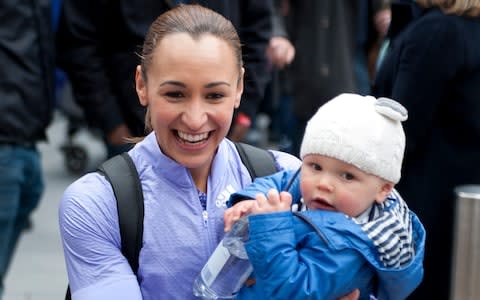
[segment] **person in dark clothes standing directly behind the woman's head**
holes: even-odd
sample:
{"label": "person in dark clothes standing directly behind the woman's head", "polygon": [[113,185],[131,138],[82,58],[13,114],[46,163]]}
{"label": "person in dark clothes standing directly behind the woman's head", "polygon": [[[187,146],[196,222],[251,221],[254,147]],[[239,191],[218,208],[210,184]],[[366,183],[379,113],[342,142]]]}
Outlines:
{"label": "person in dark clothes standing directly behind the woman's head", "polygon": [[90,125],[102,130],[109,156],[125,148],[126,136],[144,134],[144,107],[134,75],[149,25],[179,2],[195,2],[227,17],[244,45],[246,69],[242,103],[230,137],[241,140],[255,116],[268,80],[265,49],[271,35],[271,1],[64,0],[57,34],[59,66]]}

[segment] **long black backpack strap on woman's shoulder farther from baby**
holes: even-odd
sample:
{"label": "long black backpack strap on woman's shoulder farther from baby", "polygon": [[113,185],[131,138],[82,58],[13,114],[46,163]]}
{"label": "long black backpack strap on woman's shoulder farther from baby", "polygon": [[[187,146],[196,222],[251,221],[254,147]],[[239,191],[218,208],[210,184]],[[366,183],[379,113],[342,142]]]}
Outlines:
{"label": "long black backpack strap on woman's shoulder farther from baby", "polygon": [[[117,199],[122,253],[133,273],[138,271],[138,256],[143,243],[143,192],[138,172],[128,153],[114,156],[100,165]],[[132,201],[133,200],[133,201]]]}

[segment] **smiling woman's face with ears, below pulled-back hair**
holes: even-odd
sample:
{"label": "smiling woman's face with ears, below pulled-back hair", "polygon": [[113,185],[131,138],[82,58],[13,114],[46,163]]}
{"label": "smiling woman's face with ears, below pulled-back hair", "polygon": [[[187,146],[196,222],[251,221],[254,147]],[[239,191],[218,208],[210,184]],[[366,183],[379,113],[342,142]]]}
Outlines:
{"label": "smiling woman's face with ears, below pulled-back hair", "polygon": [[140,72],[137,93],[163,153],[191,171],[209,170],[243,91],[231,46],[210,34],[170,34],[153,53],[147,82]]}

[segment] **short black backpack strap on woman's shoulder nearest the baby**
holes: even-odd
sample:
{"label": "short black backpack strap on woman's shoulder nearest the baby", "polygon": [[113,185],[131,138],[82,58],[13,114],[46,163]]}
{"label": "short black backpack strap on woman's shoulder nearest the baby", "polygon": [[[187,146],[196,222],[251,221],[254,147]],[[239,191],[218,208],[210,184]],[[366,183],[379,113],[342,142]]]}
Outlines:
{"label": "short black backpack strap on woman's shoulder nearest the baby", "polygon": [[234,144],[252,180],[277,172],[275,159],[270,151],[241,142]]}

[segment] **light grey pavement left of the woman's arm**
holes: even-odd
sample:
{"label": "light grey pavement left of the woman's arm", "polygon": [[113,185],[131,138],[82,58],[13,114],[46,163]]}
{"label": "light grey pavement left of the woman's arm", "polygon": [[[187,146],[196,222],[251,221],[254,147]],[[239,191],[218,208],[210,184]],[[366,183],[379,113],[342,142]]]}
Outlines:
{"label": "light grey pavement left of the woman's arm", "polygon": [[[7,274],[3,300],[64,299],[67,286],[63,250],[58,230],[57,210],[63,190],[77,175],[68,171],[60,147],[66,141],[66,121],[57,115],[49,128],[50,142],[40,144],[46,190],[33,215],[33,228],[18,245]],[[98,138],[82,130],[75,141],[89,154],[88,170],[104,155]]]}

